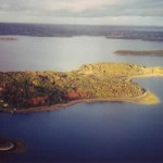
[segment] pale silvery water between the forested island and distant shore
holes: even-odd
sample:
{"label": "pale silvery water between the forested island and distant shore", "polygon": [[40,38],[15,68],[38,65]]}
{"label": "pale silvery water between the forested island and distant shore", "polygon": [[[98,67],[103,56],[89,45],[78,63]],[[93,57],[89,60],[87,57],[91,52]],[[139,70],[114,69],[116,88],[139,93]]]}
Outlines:
{"label": "pale silvery water between the forested island and distant shore", "polygon": [[[13,37],[13,36],[12,36]],[[163,65],[161,57],[120,57],[115,50],[160,50],[163,42],[104,37],[27,37],[0,41],[0,71],[70,71],[92,62],[134,62]]]}

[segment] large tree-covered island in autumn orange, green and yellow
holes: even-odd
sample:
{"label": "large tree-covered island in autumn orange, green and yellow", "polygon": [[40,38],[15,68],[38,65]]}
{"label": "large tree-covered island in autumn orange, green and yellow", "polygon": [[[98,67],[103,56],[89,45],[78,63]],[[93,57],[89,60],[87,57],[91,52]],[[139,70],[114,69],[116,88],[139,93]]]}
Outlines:
{"label": "large tree-covered island in autumn orange, green and yellow", "polygon": [[141,76],[163,76],[163,67],[93,63],[71,72],[0,72],[0,108],[27,113],[78,102],[156,104],[159,99],[152,92],[131,80]]}

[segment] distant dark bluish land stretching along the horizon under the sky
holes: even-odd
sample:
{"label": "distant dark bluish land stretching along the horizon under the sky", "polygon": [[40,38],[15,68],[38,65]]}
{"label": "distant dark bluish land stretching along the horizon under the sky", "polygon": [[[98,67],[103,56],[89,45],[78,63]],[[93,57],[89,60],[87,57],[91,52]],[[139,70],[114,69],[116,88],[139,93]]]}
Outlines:
{"label": "distant dark bluish land stretching along the horizon under the sky", "polygon": [[102,36],[108,39],[163,41],[162,27],[147,26],[0,23],[0,35],[35,37]]}

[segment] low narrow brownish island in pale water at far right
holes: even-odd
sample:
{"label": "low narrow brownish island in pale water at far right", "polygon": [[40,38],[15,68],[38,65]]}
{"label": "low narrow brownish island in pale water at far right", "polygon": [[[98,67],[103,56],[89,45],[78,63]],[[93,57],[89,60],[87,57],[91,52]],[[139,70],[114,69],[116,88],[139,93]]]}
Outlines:
{"label": "low narrow brownish island in pale water at far right", "polygon": [[150,51],[135,51],[135,50],[116,50],[115,54],[120,55],[149,55],[149,57],[163,57],[163,50],[150,50]]}

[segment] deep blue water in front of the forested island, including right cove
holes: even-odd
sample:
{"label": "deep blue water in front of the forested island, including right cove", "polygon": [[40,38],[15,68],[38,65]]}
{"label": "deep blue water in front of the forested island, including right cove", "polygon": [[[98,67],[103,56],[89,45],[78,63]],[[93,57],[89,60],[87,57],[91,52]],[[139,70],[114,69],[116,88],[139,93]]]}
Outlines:
{"label": "deep blue water in front of the forested island, including right cove", "polygon": [[[150,83],[149,83],[150,79]],[[163,100],[163,78],[135,79]],[[26,151],[7,162],[163,161],[163,106],[80,103],[52,112],[0,114],[2,136]]]}

